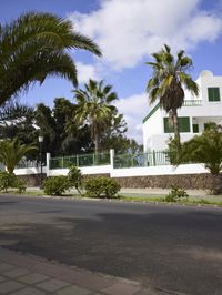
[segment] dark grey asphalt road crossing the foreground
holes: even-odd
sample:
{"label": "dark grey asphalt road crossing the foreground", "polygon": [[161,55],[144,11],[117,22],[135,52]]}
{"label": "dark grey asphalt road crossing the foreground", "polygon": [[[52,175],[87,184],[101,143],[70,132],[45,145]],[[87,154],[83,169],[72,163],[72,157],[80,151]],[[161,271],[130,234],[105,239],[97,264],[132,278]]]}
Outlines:
{"label": "dark grey asphalt road crossing the foreground", "polygon": [[222,294],[221,208],[0,196],[0,245],[165,294]]}

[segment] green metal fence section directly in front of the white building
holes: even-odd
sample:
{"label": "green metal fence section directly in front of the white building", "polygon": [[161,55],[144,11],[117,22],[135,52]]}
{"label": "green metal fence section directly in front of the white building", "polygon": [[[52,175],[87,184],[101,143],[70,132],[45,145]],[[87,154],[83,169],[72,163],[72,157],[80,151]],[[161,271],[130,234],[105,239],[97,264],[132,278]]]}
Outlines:
{"label": "green metal fence section directly in front of the white building", "polygon": [[114,155],[114,169],[121,167],[144,167],[171,165],[175,160],[176,153],[168,151],[152,151],[140,154],[117,154]]}

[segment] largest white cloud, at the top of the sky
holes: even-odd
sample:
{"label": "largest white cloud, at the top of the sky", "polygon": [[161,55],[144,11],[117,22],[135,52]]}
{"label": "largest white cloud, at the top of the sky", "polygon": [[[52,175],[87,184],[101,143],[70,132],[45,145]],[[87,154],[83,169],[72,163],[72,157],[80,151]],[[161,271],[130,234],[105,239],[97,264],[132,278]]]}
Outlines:
{"label": "largest white cloud, at the top of the sky", "polygon": [[69,16],[75,30],[93,38],[103,61],[114,69],[132,68],[164,42],[175,50],[213,41],[222,20],[200,10],[201,0],[101,0],[89,14]]}

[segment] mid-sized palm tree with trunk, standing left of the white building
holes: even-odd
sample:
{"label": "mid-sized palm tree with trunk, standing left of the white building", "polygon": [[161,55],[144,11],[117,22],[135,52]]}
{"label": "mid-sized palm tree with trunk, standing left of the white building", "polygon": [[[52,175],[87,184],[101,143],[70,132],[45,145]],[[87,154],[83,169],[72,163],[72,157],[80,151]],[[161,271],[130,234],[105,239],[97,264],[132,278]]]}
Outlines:
{"label": "mid-sized palm tree with trunk, standing left of the white building", "polygon": [[73,91],[78,102],[74,119],[80,124],[89,123],[95,153],[101,152],[101,132],[105,121],[111,120],[117,111],[111,103],[118,100],[118,95],[111,90],[112,85],[103,85],[103,81],[97,82],[90,79],[89,83],[84,84],[84,90]]}

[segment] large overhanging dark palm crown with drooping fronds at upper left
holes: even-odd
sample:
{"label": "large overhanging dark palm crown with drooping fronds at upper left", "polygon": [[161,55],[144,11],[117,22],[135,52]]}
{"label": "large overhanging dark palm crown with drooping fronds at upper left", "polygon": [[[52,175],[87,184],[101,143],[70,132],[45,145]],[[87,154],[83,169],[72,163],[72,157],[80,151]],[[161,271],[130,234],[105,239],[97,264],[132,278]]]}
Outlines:
{"label": "large overhanging dark palm crown with drooping fronds at upper left", "polygon": [[44,12],[29,12],[0,27],[0,105],[48,75],[78,84],[68,50],[83,49],[101,55],[98,45],[72,23]]}

